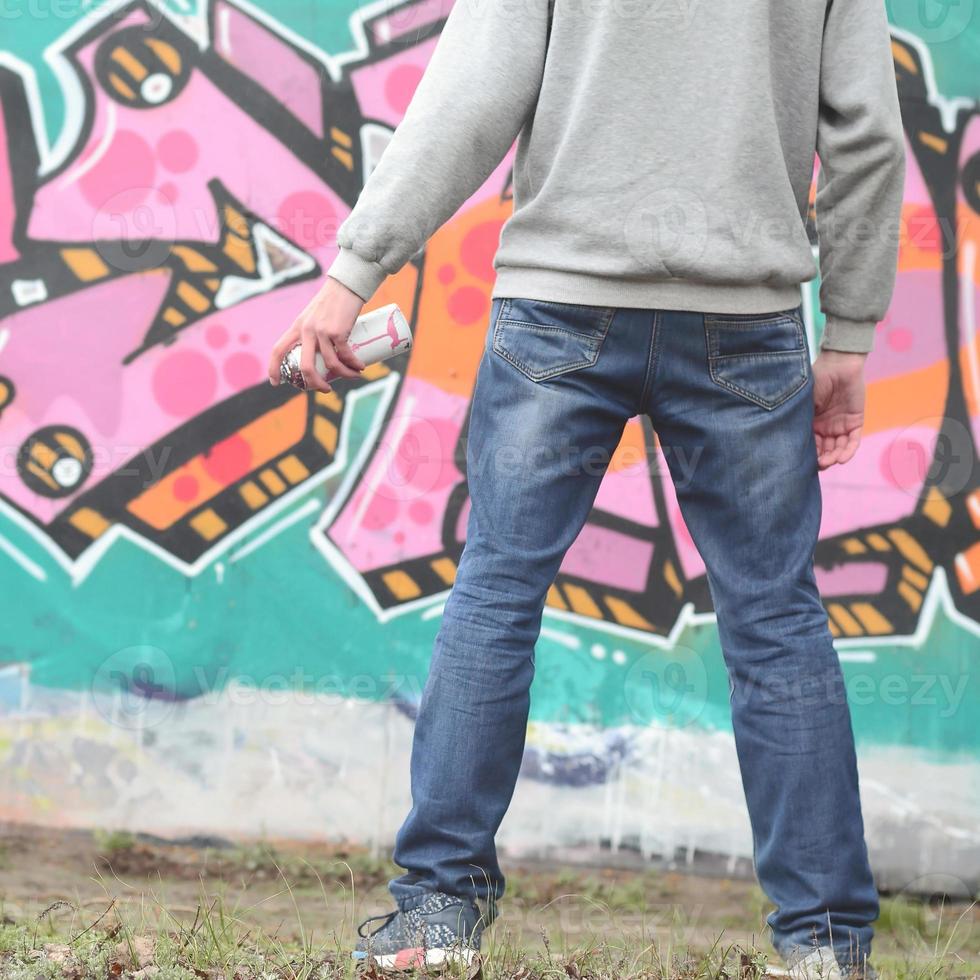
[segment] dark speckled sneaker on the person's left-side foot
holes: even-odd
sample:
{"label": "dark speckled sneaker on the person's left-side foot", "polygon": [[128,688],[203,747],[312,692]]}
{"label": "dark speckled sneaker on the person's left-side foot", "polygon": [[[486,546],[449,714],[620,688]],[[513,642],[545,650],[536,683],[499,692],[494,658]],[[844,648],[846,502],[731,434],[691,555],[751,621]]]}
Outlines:
{"label": "dark speckled sneaker on the person's left-side foot", "polygon": [[[381,925],[371,932],[371,922]],[[371,957],[382,970],[469,965],[480,951],[486,920],[476,904],[458,895],[432,892],[413,909],[395,909],[387,915],[365,919],[358,927],[361,937],[351,956]]]}

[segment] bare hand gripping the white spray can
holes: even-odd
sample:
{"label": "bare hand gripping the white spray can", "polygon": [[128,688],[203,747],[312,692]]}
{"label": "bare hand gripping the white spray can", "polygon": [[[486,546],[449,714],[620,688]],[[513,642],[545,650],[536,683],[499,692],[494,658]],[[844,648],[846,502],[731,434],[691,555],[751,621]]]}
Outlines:
{"label": "bare hand gripping the white spray can", "polygon": [[269,357],[269,381],[279,384],[279,365],[287,351],[296,344],[303,349],[300,372],[310,391],[330,391],[330,384],[316,370],[316,353],[320,352],[328,371],[343,378],[356,378],[366,365],[351,350],[348,338],[364,300],[343,283],[327,276],[313,299],[293,321],[293,325],[276,341]]}

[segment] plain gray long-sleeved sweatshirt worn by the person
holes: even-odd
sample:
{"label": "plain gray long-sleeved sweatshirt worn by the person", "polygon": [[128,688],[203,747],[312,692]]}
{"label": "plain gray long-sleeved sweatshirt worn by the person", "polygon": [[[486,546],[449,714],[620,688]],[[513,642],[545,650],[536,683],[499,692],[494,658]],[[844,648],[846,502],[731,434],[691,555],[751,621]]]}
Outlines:
{"label": "plain gray long-sleeved sweatshirt worn by the person", "polygon": [[365,301],[517,140],[492,296],[800,302],[814,151],[822,346],[868,351],[905,146],[884,0],[456,0],[327,274]]}

